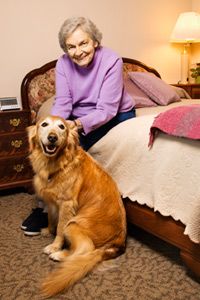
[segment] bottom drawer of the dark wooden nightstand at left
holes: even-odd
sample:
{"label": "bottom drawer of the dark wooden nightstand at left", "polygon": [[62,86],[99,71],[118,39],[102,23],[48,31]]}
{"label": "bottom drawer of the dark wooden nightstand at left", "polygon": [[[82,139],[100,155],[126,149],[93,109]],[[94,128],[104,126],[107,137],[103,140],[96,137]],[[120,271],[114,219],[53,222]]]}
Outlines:
{"label": "bottom drawer of the dark wooden nightstand at left", "polygon": [[32,167],[28,156],[17,156],[9,159],[0,159],[0,185],[31,179]]}

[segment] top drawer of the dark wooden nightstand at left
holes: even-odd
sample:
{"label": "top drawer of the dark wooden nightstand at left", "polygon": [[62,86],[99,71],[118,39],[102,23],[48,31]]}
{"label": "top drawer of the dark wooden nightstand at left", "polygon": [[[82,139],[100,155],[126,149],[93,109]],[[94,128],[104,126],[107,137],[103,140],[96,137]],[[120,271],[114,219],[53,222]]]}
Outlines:
{"label": "top drawer of the dark wooden nightstand at left", "polygon": [[0,133],[24,131],[29,123],[29,113],[26,111],[0,112]]}

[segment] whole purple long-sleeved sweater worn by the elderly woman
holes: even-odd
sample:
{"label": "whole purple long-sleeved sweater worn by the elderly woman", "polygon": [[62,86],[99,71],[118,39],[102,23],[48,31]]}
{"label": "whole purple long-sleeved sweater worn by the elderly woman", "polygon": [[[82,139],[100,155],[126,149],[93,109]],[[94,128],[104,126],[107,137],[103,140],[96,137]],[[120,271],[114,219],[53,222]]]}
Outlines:
{"label": "whole purple long-sleeved sweater worn by the elderly woman", "polygon": [[79,118],[85,134],[133,107],[123,87],[123,62],[112,50],[100,47],[88,67],[64,54],[56,65],[56,98],[52,115]]}

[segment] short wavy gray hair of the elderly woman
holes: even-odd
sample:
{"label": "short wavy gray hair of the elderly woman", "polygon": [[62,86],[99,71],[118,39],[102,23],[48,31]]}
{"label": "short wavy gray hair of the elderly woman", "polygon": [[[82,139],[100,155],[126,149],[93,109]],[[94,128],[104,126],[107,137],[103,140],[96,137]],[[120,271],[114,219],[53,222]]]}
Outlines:
{"label": "short wavy gray hair of the elderly woman", "polygon": [[77,27],[81,27],[83,31],[87,32],[90,38],[94,42],[98,43],[98,46],[101,45],[102,33],[96,25],[88,18],[74,17],[65,20],[58,34],[60,47],[64,50],[64,52],[67,53],[66,39],[77,29]]}

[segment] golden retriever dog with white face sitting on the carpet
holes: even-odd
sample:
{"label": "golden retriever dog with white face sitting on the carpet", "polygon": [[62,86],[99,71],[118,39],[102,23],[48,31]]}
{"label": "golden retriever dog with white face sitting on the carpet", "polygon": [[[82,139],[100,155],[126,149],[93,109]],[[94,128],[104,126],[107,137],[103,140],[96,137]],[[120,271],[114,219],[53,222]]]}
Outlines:
{"label": "golden retriever dog with white face sitting on the carpet", "polygon": [[48,205],[49,232],[56,232],[44,253],[62,261],[42,284],[50,297],[124,252],[126,216],[115,182],[79,146],[75,126],[48,116],[27,130],[35,192]]}

